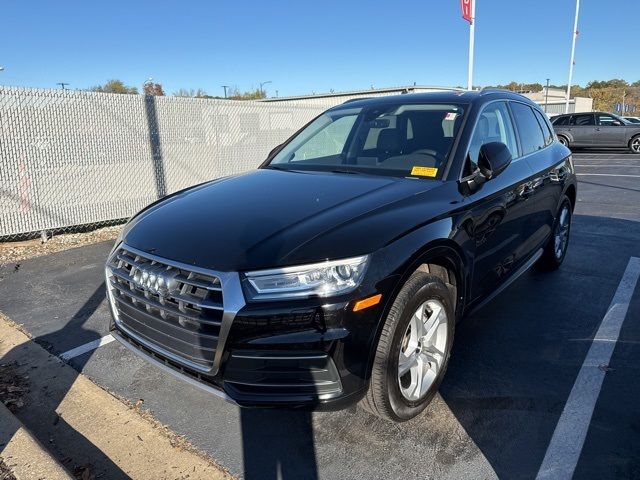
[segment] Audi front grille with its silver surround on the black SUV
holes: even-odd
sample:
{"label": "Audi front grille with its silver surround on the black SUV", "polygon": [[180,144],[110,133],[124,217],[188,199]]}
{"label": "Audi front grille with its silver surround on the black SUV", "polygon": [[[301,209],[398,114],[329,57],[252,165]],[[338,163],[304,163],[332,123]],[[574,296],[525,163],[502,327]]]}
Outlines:
{"label": "Audi front grille with its silver surround on the black SUV", "polygon": [[[144,268],[145,265],[149,264],[154,266],[160,264],[166,266],[167,270],[180,270],[181,272],[173,278],[182,284],[182,287],[179,292],[167,293],[166,298],[163,298],[162,295],[157,296],[158,298],[153,298],[153,294],[140,288],[129,274],[129,271],[127,271],[126,268],[122,268],[122,262],[127,263],[130,270],[134,262],[136,268],[141,266]],[[139,344],[173,362],[208,375],[217,374],[231,324],[237,312],[245,305],[244,294],[240,285],[240,277],[237,272],[218,272],[204,269],[158,257],[130,247],[125,243],[121,243],[116,245],[109,255],[105,274],[109,303],[118,329]],[[206,291],[206,293],[204,293],[201,298],[197,298],[193,295],[194,292],[197,292],[197,290],[194,289],[202,289]],[[213,301],[208,298],[211,295],[221,296],[220,301]],[[125,302],[125,298],[128,301]],[[200,349],[201,351],[209,352],[208,355],[213,354],[213,358],[207,358],[206,362],[193,361],[193,357],[187,352],[183,353],[185,356],[182,356],[182,354],[177,355],[170,351],[173,350],[173,348],[170,348],[169,345],[165,346],[156,341],[150,341],[150,339],[144,335],[133,331],[132,328],[125,325],[124,319],[120,318],[120,302],[125,302],[129,308],[137,309],[140,314],[152,316],[159,322],[166,322],[171,328],[184,328],[182,320],[189,322],[192,327],[198,328],[198,331],[186,328],[185,330],[189,330],[190,333],[195,333],[203,339],[216,337],[208,332],[200,331],[203,325],[207,328],[218,327],[215,350],[212,351],[211,348],[205,348],[204,345],[201,345],[202,348]],[[220,315],[220,318],[203,318],[202,312]],[[215,312],[219,313],[216,314]],[[125,314],[124,311],[123,315],[129,316],[129,314]],[[170,321],[173,320],[170,317],[179,318],[179,324]],[[129,318],[133,317],[129,316]],[[157,325],[145,325],[148,328],[157,330]],[[166,331],[160,333],[169,336]],[[172,338],[179,340],[176,337]],[[198,345],[194,346],[198,347]]]}

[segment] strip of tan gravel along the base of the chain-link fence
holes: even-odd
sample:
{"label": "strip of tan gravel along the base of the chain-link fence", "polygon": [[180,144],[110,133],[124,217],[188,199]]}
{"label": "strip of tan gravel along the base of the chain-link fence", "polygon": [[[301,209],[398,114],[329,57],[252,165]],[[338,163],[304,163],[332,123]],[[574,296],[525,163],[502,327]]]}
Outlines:
{"label": "strip of tan gravel along the base of the chain-link fence", "polygon": [[69,248],[103,242],[105,240],[115,240],[120,230],[122,230],[122,227],[122,225],[114,225],[91,232],[55,235],[45,243],[40,239],[21,242],[3,242],[0,243],[0,265],[17,263],[27,258],[40,257]]}

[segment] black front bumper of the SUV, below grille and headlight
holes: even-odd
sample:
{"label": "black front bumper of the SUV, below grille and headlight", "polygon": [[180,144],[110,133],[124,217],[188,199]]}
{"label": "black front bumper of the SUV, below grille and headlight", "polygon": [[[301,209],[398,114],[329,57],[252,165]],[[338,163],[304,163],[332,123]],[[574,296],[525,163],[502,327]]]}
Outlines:
{"label": "black front bumper of the SUV, below grille and headlight", "polygon": [[[372,333],[378,318],[373,311],[349,314],[345,311],[349,304],[311,308],[317,313],[338,307],[339,313],[331,315],[335,324],[329,327],[324,315],[323,328],[312,324],[321,315],[303,315],[311,322],[304,323],[300,313],[281,306],[241,311],[215,374],[190,368],[140,342],[115,320],[111,332],[127,349],[162,370],[240,406],[334,410],[357,402],[366,391]],[[360,325],[350,325],[352,321]],[[264,334],[265,328],[271,330],[269,335]]]}

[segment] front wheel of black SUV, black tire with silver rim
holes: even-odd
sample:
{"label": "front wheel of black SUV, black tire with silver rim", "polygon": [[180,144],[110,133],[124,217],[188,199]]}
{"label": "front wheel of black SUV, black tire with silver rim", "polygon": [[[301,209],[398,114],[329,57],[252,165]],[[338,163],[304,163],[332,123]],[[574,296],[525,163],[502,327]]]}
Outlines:
{"label": "front wheel of black SUV, black tire with silver rim", "polygon": [[[423,308],[422,318],[414,315]],[[443,279],[414,272],[385,319],[362,407],[393,422],[410,420],[422,412],[446,372],[454,330],[453,302]],[[427,338],[430,331],[433,335]],[[425,335],[421,337],[422,334]],[[401,376],[400,366],[405,369],[409,365],[413,366]],[[417,383],[421,375],[422,388]]]}

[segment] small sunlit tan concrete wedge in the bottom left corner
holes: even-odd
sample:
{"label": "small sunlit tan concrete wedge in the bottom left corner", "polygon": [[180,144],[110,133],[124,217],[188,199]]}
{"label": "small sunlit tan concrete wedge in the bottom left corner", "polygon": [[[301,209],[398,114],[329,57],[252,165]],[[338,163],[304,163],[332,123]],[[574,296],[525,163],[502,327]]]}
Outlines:
{"label": "small sunlit tan concrete wedge in the bottom left corner", "polygon": [[73,477],[0,402],[0,458],[18,479]]}

